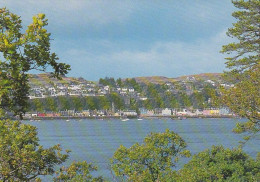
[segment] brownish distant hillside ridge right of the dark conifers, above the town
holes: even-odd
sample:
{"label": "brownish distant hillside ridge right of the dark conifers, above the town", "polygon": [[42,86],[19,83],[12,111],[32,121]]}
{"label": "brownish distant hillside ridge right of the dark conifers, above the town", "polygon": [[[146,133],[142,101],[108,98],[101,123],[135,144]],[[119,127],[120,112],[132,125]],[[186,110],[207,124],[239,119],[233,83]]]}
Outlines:
{"label": "brownish distant hillside ridge right of the dark conifers, above the town", "polygon": [[164,84],[166,82],[176,82],[176,81],[184,81],[184,80],[212,80],[219,81],[222,80],[221,76],[223,73],[201,73],[196,75],[186,75],[177,78],[167,78],[164,76],[150,76],[150,77],[135,77],[136,81],[139,83],[154,83],[154,84]]}

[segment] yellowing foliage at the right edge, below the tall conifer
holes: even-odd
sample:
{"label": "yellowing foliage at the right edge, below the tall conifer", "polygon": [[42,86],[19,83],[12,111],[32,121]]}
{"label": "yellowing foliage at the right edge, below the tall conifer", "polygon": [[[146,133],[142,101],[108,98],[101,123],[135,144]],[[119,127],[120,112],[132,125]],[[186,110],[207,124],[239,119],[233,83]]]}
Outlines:
{"label": "yellowing foliage at the right edge, below the tall conifer", "polygon": [[260,131],[260,72],[258,70],[249,72],[247,77],[236,84],[234,88],[224,90],[223,101],[229,108],[241,117],[249,121],[238,123],[234,132],[250,132],[255,134]]}

